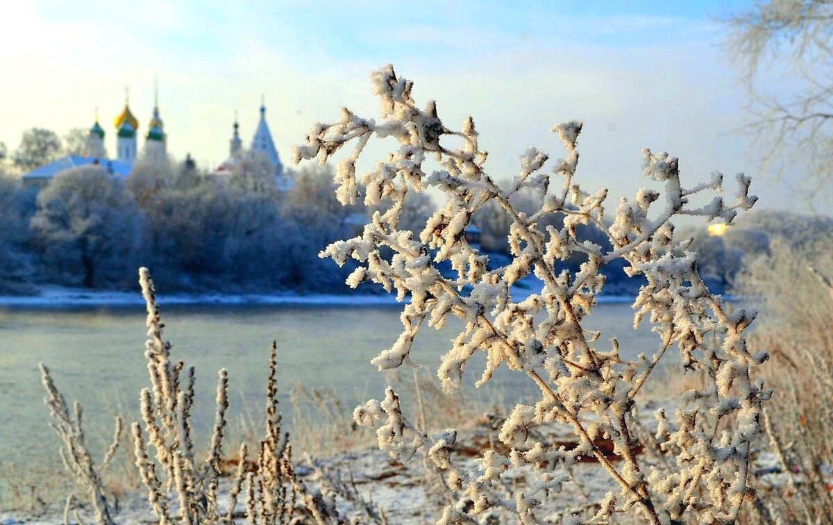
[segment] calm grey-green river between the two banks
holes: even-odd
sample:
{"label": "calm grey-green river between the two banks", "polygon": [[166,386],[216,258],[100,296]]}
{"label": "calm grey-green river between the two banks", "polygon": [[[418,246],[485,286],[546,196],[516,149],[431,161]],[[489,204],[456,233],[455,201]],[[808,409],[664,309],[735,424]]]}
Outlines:
{"label": "calm grey-green river between the two banks", "polygon": [[[326,388],[348,408],[384,395],[386,377],[369,362],[397,338],[397,306],[185,306],[165,307],[166,338],[172,356],[197,367],[195,426],[213,418],[217,370],[227,368],[232,413],[242,404],[259,410],[267,378],[272,339],[277,340],[282,412],[291,424],[290,388]],[[0,463],[51,456],[57,438],[47,426],[47,407],[37,363],[46,363],[67,402],[79,400],[88,433],[112,428],[112,413],[137,413],[139,391],[147,386],[143,357],[147,329],[140,306],[84,308],[0,308]],[[602,329],[602,341],[614,334],[623,355],[651,353],[657,339],[647,327],[634,332],[629,304],[601,304],[590,328]],[[437,332],[424,329],[412,357],[436,374],[440,356],[450,347],[459,324]],[[466,368],[467,384],[479,378],[482,358]],[[412,376],[409,369],[408,377]],[[501,369],[492,380],[509,401],[531,391],[526,378]],[[466,388],[471,395],[472,388]],[[495,393],[495,391],[492,391]],[[490,395],[486,391],[483,395]]]}

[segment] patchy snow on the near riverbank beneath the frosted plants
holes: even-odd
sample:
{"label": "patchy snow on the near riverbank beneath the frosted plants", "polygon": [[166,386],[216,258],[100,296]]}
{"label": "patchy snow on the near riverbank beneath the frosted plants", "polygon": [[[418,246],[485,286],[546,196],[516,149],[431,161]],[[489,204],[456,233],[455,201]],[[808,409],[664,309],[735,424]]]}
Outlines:
{"label": "patchy snow on the near riverbank beneath the frosted plants", "polygon": [[[656,402],[653,402],[656,403]],[[663,406],[673,411],[673,400],[663,403]],[[648,407],[641,413],[645,416],[644,422],[648,423],[650,410]],[[372,407],[372,411],[378,409]],[[467,468],[472,468],[488,478],[491,475],[502,473],[506,480],[511,483],[521,482],[528,475],[529,467],[519,467],[515,462],[506,462],[497,451],[492,449],[492,444],[500,443],[496,433],[501,432],[496,428],[496,416],[484,416],[472,428],[461,431],[460,438],[451,435],[437,436],[437,443],[444,441],[450,443],[451,458]],[[499,418],[498,418],[499,419]],[[649,427],[651,431],[659,430],[656,424]],[[570,440],[575,439],[568,428],[558,425],[551,425],[546,428],[548,439]],[[528,443],[527,443],[528,444]],[[536,448],[529,448],[521,443],[521,450],[526,458],[531,458],[536,453]],[[483,453],[482,458],[478,456]],[[511,453],[517,456],[518,453]],[[318,466],[324,468],[327,473],[340,473],[344,478],[352,478],[357,493],[367,501],[377,504],[385,512],[387,519],[392,523],[425,523],[436,521],[441,514],[441,507],[436,502],[436,497],[430,492],[430,484],[426,483],[425,463],[417,456],[411,461],[400,463],[392,459],[385,451],[376,447],[356,448],[342,453],[333,453],[327,457],[315,458],[313,460]],[[618,463],[617,463],[618,464]],[[318,486],[318,477],[311,468],[307,468],[307,462],[302,462],[297,467],[297,473],[301,475],[305,483],[312,487]],[[781,472],[778,460],[774,454],[761,453],[754,465],[757,475],[761,476],[766,483],[782,485],[788,483],[787,474]],[[822,471],[826,476],[831,475],[831,466],[825,465]],[[573,512],[580,512],[586,499],[589,497],[595,501],[606,499],[606,494],[618,493],[604,468],[592,461],[575,463],[571,467],[568,476],[561,472],[554,472],[551,483],[552,489],[549,495],[544,498],[546,517],[545,522],[566,522]],[[228,478],[223,478],[227,480]],[[560,487],[556,487],[560,485]],[[533,489],[534,490],[534,489]],[[581,490],[586,494],[581,493]],[[526,496],[532,497],[532,490],[525,492]],[[222,484],[219,488],[219,498],[224,505],[227,501],[228,486]],[[355,512],[355,507],[342,499],[338,500],[339,511],[348,517]],[[82,512],[83,516],[83,512]],[[146,496],[143,493],[126,493],[119,501],[119,513],[116,517],[119,523],[147,523],[155,522],[147,505]],[[47,508],[45,512],[32,514],[31,512],[0,512],[0,525],[17,525],[27,523],[32,525],[52,525],[63,522],[61,509],[57,507]],[[242,520],[241,520],[242,522]]]}

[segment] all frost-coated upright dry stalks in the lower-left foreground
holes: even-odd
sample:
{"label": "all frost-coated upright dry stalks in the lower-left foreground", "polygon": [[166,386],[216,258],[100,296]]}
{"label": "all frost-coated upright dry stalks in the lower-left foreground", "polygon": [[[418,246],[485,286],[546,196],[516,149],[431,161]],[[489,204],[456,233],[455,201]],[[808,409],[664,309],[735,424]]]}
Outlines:
{"label": "all frost-coated upright dry stalks in the lower-left foreground", "polygon": [[[196,370],[182,361],[174,362],[171,344],[162,337],[162,318],[156,292],[147,268],[140,269],[139,282],[147,302],[147,344],[145,358],[150,379],[142,389],[141,419],[132,423],[133,461],[147,494],[150,511],[160,524],[183,525],[234,523],[245,519],[251,523],[347,522],[337,508],[333,488],[349,486],[337,483],[320,488],[308,486],[296,473],[292,463],[289,434],[282,429],[277,402],[277,348],[272,343],[267,382],[265,434],[249,454],[242,443],[237,454],[227,451],[229,418],[228,374],[218,373],[215,421],[205,453],[197,448],[201,436],[192,432],[194,383]],[[63,443],[61,457],[67,473],[87,493],[93,509],[92,520],[102,525],[115,522],[117,505],[105,488],[102,472],[115,457],[122,443],[122,421],[117,419],[112,445],[100,463],[92,460],[83,431],[82,408],[66,400],[55,386],[49,370],[41,365],[46,403],[51,410],[52,428]],[[231,459],[231,461],[230,461]],[[331,476],[330,479],[337,479]],[[347,498],[358,499],[355,491]],[[64,522],[69,522],[77,502],[67,498]],[[385,522],[384,515],[371,504],[359,507],[370,522]],[[82,522],[74,512],[77,522]]]}

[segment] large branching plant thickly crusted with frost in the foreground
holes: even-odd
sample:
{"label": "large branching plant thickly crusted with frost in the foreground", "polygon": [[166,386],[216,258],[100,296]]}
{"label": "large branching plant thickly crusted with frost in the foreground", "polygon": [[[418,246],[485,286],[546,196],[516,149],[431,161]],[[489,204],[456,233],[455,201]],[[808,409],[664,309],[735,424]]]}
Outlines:
{"label": "large branching plant thickly crusted with frost in the foreground", "polygon": [[[487,511],[510,512],[523,523],[541,522],[541,502],[571,483],[564,468],[582,456],[596,458],[620,488],[594,502],[588,522],[607,522],[631,510],[652,523],[692,516],[706,523],[734,522],[743,502],[754,498],[751,442],[760,432],[761,403],[771,391],[753,371],[767,356],[752,353],[746,345],[746,329],[755,313],[745,308],[730,313],[720,297],[709,293],[697,273],[696,253],[686,249],[687,243],[672,241],[671,219],[693,216],[731,223],[738,210],[756,202],[748,194],[750,178],[737,176],[733,203],[718,194],[696,206],[701,194],[722,192],[721,174],[684,186],[676,158],[644,149],[642,175],[661,191],[643,188],[635,197],[623,198],[608,220],[606,189],[588,193],[575,180],[581,122],[552,128],[565,149],[563,158],[550,163],[548,154],[527,148],[517,177],[501,188],[486,173],[486,152],[478,147],[471,117],[460,130],[448,128],[436,102],[417,107],[413,82],[398,77],[392,66],[372,72],[371,80],[382,120],[342,108],[336,122],[312,126],[306,143],[293,149],[293,160],[314,158],[323,164],[352,144],[338,163],[338,199],[352,204],[363,195],[367,206],[384,204],[360,235],[332,243],[321,254],[339,265],[355,259],[358,266],[347,278],[350,286],[378,283],[405,303],[402,334],[372,363],[380,370],[414,364],[412,344],[421,329],[441,328],[453,316],[463,328],[437,371],[446,389],[460,388],[471,356],[486,353],[478,386],[506,367],[526,376],[541,396],[536,403],[518,404],[503,424],[500,439],[511,453],[487,451],[473,470],[461,467],[451,455],[456,431],[422,433],[403,414],[390,387],[381,401],[356,409],[357,423],[377,426],[379,446],[392,457],[407,461],[421,451],[440,469],[461,501],[446,507],[441,523],[470,522]],[[374,137],[393,138],[398,148],[359,176],[357,160]],[[435,169],[429,168],[431,163]],[[552,167],[551,174],[545,166]],[[421,231],[401,229],[403,203],[426,188],[440,190],[445,203]],[[522,188],[539,193],[537,210],[522,212],[513,206],[511,196]],[[463,234],[472,214],[486,203],[496,203],[511,220],[511,263],[493,270]],[[552,214],[563,218],[561,228],[539,228]],[[611,248],[578,238],[579,225],[598,229]],[[561,269],[572,254],[584,258],[575,273]],[[632,360],[620,354],[611,334],[603,339],[582,324],[605,284],[600,269],[619,259],[630,275],[646,278],[633,305],[634,324],[651,323],[661,340],[656,352]],[[441,275],[436,264],[443,261],[451,262],[456,278]],[[513,300],[512,285],[529,273],[541,280],[541,290]],[[719,344],[706,346],[706,338]],[[648,465],[637,454],[647,438],[635,430],[635,398],[675,346],[686,371],[703,374],[708,386],[686,393],[674,414],[656,413],[656,439],[669,461]],[[566,449],[536,441],[536,428],[546,423],[565,424],[579,445]],[[611,463],[598,448],[596,439],[601,437],[611,439],[621,463]],[[511,467],[533,468],[537,477],[526,478],[525,488],[508,493],[504,477]]]}

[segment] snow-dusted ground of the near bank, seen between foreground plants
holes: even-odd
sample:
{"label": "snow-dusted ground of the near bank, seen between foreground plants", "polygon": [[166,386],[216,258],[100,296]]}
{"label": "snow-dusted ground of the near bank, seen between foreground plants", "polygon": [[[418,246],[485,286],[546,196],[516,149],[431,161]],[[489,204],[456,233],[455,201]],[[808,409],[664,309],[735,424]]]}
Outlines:
{"label": "snow-dusted ground of the near bank, seen between foreground plants", "polygon": [[[656,404],[653,408],[656,408]],[[670,407],[673,403],[667,403]],[[663,403],[666,405],[666,403]],[[648,413],[646,411],[645,417]],[[452,460],[461,464],[464,468],[475,469],[474,460],[488,448],[501,450],[501,444],[496,438],[496,420],[494,418],[483,418],[481,421],[464,432],[461,432],[458,443],[463,443],[455,448]],[[568,448],[574,442],[574,438],[566,428],[552,426],[546,429],[546,439],[563,443]],[[645,458],[651,463],[651,458]],[[394,461],[387,453],[382,453],[375,447],[359,448],[357,450],[338,453],[329,458],[318,458],[316,460],[319,470],[317,472],[306,467],[309,463],[304,461],[297,467],[297,473],[310,488],[321,487],[320,473],[326,473],[330,478],[340,476],[342,480],[352,479],[352,486],[365,502],[372,502],[381,508],[391,523],[421,524],[436,522],[441,512],[443,502],[435,493],[428,489],[426,483],[426,470],[421,457],[417,455],[411,462],[402,464]],[[783,473],[779,473],[776,458],[771,454],[761,454],[758,458],[756,469],[766,472],[769,483],[778,485],[786,483]],[[514,485],[529,483],[531,471],[525,468],[512,469],[508,475],[507,488],[514,489]],[[586,508],[586,502],[599,501],[608,491],[618,492],[615,484],[598,463],[588,461],[576,463],[571,468],[571,478],[576,483],[565,483],[561,493],[551,494],[546,498],[543,505],[546,522],[559,523],[574,512],[580,513]],[[220,487],[221,507],[225,507],[228,495],[229,478],[224,478],[225,483]],[[344,498],[339,498],[339,510],[344,517],[360,516],[359,522],[370,522],[366,516],[357,512],[357,505]],[[175,502],[170,503],[172,507]],[[238,503],[238,509],[242,512],[242,501]],[[80,515],[85,522],[92,522],[92,515],[82,510]],[[485,517],[484,517],[485,519]],[[157,522],[151,512],[148,511],[147,502],[142,493],[132,493],[122,496],[119,501],[118,523],[154,523]],[[0,525],[43,524],[52,525],[63,523],[62,509],[48,508],[37,514],[27,512],[0,512]],[[71,522],[75,522],[71,520]],[[238,522],[244,522],[241,517]],[[487,522],[487,521],[484,521]],[[512,522],[501,520],[501,522]]]}

